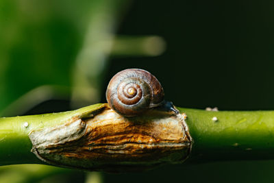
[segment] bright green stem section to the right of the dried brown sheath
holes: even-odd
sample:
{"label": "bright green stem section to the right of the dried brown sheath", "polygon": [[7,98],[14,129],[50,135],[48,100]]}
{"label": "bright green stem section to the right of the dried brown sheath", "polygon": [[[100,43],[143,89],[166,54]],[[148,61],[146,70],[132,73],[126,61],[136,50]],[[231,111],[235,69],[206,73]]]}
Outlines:
{"label": "bright green stem section to the right of the dried brown sheath", "polygon": [[194,141],[190,161],[274,158],[274,111],[180,110]]}

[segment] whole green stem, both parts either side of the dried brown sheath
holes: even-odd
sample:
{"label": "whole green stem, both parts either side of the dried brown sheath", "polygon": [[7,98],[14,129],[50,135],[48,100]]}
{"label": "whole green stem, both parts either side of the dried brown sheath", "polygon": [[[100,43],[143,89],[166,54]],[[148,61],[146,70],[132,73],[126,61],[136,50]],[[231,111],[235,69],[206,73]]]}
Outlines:
{"label": "whole green stem, both parts either side of the dried brown sheath", "polygon": [[[0,164],[38,163],[29,132],[88,115],[101,104],[70,112],[0,119]],[[179,108],[193,139],[188,162],[274,158],[274,111],[213,112]],[[213,121],[216,117],[218,121]],[[27,127],[24,124],[28,124]]]}

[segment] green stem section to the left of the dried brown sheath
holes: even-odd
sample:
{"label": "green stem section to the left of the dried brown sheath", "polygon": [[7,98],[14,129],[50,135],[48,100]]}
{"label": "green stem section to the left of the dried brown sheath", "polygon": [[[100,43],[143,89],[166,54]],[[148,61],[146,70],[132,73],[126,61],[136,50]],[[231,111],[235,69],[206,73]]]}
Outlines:
{"label": "green stem section to the left of the dried brown sheath", "polygon": [[[59,125],[75,115],[85,115],[90,110],[97,110],[99,106],[101,104],[69,112],[0,118],[0,165],[45,164],[31,152],[32,143],[29,140],[29,132],[43,127]],[[25,127],[26,124],[28,124],[27,127]]]}

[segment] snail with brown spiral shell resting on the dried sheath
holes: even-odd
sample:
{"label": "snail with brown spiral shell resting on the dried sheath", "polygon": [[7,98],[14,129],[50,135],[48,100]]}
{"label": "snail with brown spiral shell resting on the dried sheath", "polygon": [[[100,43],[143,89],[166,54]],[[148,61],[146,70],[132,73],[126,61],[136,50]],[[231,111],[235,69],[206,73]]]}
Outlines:
{"label": "snail with brown spiral shell resting on the dried sheath", "polygon": [[164,89],[156,77],[142,69],[116,73],[105,95],[110,108],[124,117],[135,117],[152,108],[179,114],[171,101],[164,100]]}

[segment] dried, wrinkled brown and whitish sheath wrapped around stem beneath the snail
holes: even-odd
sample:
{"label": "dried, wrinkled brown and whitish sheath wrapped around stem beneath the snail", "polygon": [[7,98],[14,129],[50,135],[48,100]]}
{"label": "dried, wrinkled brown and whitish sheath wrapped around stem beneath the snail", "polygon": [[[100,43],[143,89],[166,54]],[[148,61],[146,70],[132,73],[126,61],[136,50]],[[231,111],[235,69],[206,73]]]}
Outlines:
{"label": "dried, wrinkled brown and whitish sheath wrapped around stem beneath the snail", "polygon": [[108,105],[93,114],[31,132],[32,151],[49,164],[104,171],[179,163],[190,154],[191,137],[182,114],[151,111],[124,118]]}

